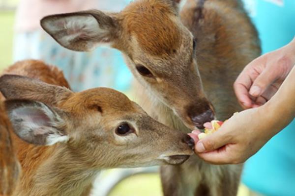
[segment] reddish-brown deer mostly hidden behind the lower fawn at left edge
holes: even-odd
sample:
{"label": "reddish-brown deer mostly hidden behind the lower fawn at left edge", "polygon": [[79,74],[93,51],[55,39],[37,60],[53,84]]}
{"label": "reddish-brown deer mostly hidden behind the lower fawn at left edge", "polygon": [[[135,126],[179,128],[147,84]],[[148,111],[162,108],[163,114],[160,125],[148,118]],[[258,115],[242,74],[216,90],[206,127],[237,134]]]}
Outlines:
{"label": "reddish-brown deer mostly hidden behind the lower fawn at left edge", "polygon": [[[57,67],[47,66],[41,61],[17,62],[4,70],[3,73],[26,75],[49,84],[69,88],[62,72]],[[13,141],[10,135],[14,132],[6,115],[3,100],[0,93],[0,196],[10,196],[18,182],[21,167],[12,145]]]}

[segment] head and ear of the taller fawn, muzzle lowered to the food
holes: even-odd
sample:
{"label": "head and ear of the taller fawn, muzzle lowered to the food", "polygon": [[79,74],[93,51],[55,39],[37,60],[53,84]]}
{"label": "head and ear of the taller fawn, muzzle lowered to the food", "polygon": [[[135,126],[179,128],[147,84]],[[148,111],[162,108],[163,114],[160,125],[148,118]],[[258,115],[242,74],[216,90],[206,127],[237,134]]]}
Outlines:
{"label": "head and ear of the taller fawn, muzzle lowered to the food", "polygon": [[195,58],[196,42],[178,15],[180,0],[135,0],[119,13],[88,10],[47,16],[41,25],[61,46],[122,51],[138,81],[189,128],[214,118]]}

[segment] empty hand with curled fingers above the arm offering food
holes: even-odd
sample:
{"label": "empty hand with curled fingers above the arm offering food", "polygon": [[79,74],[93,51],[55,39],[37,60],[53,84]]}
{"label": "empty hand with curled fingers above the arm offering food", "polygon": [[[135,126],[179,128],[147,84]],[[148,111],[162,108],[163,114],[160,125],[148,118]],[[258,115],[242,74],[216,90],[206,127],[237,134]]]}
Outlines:
{"label": "empty hand with curled fingers above the arm offering food", "polygon": [[244,109],[266,103],[295,65],[295,39],[249,63],[234,84],[236,97]]}

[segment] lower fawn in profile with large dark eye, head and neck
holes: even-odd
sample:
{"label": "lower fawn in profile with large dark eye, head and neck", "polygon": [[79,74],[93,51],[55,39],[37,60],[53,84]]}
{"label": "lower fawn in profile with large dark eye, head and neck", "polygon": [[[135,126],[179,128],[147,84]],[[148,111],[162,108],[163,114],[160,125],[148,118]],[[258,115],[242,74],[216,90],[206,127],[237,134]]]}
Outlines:
{"label": "lower fawn in profile with large dark eye, head and neck", "polygon": [[0,91],[22,166],[13,196],[86,196],[101,169],[181,164],[193,153],[190,137],[112,89],[74,93],[3,75]]}

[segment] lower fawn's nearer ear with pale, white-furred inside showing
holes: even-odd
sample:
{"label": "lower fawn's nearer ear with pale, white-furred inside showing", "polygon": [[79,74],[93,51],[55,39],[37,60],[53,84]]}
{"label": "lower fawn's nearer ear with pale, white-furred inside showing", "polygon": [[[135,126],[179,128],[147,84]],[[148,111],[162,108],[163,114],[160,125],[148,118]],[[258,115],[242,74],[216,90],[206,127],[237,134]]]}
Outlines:
{"label": "lower fawn's nearer ear with pale, white-furred inside showing", "polygon": [[62,111],[31,100],[6,100],[5,108],[14,132],[22,140],[43,146],[68,140]]}

